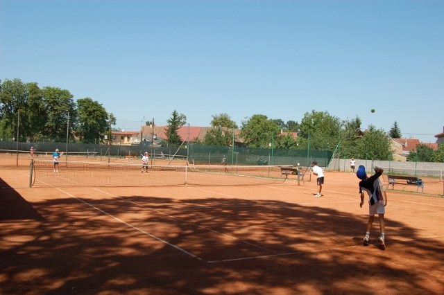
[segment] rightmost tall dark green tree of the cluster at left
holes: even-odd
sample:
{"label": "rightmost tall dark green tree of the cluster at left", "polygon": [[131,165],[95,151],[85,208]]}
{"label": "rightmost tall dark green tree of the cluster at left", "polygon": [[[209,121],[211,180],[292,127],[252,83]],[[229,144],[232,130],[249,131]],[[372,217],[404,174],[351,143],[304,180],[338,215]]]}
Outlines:
{"label": "rightmost tall dark green tree of the cluster at left", "polygon": [[105,108],[91,98],[77,100],[78,127],[76,134],[82,143],[103,141],[108,129],[108,114]]}

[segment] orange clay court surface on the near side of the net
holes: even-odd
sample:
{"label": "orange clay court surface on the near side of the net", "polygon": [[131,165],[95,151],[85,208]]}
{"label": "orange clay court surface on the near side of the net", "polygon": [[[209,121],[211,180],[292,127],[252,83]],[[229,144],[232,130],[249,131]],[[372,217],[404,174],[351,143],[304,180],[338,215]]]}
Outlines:
{"label": "orange clay court surface on the near side of the net", "polygon": [[[5,159],[0,159],[4,163]],[[1,165],[0,165],[1,166]],[[355,175],[248,186],[28,188],[0,168],[1,294],[443,294],[444,199],[388,191],[361,245]],[[9,188],[7,188],[9,187]]]}

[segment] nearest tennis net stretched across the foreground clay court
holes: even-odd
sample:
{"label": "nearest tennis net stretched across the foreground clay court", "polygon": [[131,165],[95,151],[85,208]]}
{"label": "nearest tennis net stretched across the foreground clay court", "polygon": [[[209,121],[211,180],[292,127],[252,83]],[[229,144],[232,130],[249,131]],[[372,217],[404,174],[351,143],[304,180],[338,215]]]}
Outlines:
{"label": "nearest tennis net stretched across the foreground clay court", "polygon": [[248,186],[282,183],[279,166],[160,166],[32,160],[33,187]]}

